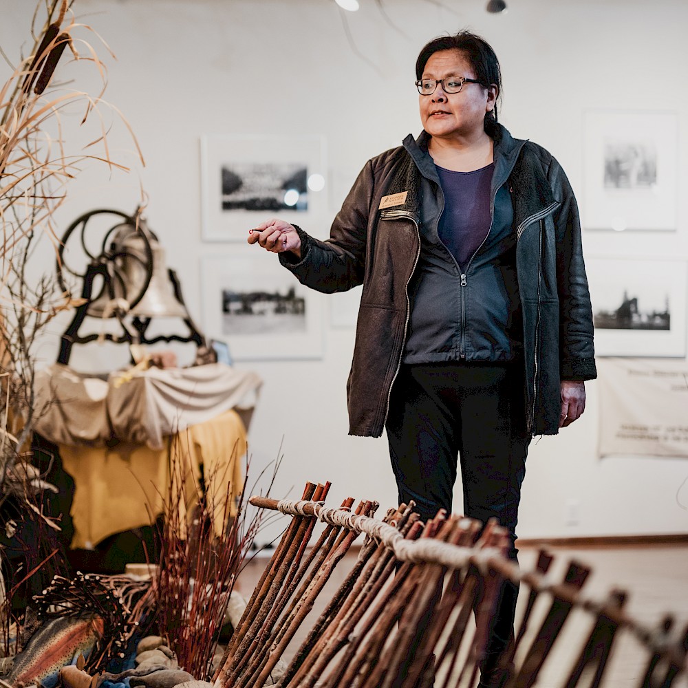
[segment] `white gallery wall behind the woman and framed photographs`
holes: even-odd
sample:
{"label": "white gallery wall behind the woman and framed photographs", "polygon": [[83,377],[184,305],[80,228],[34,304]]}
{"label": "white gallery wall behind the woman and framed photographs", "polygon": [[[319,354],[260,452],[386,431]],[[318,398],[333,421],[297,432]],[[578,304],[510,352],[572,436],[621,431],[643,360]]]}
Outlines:
{"label": "white gallery wall behind the woman and framed photographs", "polygon": [[[10,11],[3,12],[0,45],[13,57],[22,42],[25,50],[32,45],[33,3],[3,4]],[[76,0],[77,16],[116,55],[98,50],[107,63],[105,99],[127,118],[146,166],[132,152],[127,129],[106,111],[111,154],[131,173],[85,166],[58,211],[58,229],[96,207],[131,212],[143,190],[149,226],[180,276],[191,313],[202,321],[204,259],[277,259],[244,243],[202,241],[200,138],[323,136],[327,201],[321,217],[309,220],[314,226],[304,228],[326,235],[366,160],[407,133],[419,133],[413,70],[420,47],[438,34],[471,28],[495,47],[502,63],[499,120],[514,136],[530,138],[557,157],[581,205],[586,111],[676,115],[677,230],[586,230],[583,246],[591,257],[688,259],[688,208],[682,202],[688,183],[688,3],[509,0],[502,15],[488,14],[484,6],[482,0],[384,0],[385,18],[374,0],[361,0],[361,10],[345,17],[333,0]],[[358,54],[347,41],[344,19]],[[97,80],[88,85],[96,87]],[[74,109],[70,115],[75,126],[81,114]],[[41,269],[52,269],[49,251],[44,255]],[[354,330],[332,326],[335,304],[347,304],[321,298],[321,358],[237,363],[264,379],[250,427],[250,473],[256,477],[281,454],[276,496],[298,497],[306,480],[330,480],[328,502],[352,495],[377,499],[384,510],[396,503],[386,440],[347,436],[345,384]],[[63,327],[63,321],[52,324],[39,350],[42,363],[54,361]],[[279,356],[279,339],[270,347]],[[74,366],[113,365],[112,354],[96,348],[75,349]],[[687,533],[688,460],[599,458],[599,394],[594,382],[587,389],[583,418],[531,445],[519,535]],[[455,509],[460,505],[458,487]]]}

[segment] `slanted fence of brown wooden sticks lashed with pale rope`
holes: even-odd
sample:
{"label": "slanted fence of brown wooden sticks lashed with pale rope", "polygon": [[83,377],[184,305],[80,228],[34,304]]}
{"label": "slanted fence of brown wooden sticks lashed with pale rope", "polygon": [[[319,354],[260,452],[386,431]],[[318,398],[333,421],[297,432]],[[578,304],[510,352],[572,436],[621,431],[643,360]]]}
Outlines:
{"label": "slanted fence of brown wooden sticks lashed with pale rope", "polygon": [[[677,635],[669,617],[660,627],[643,627],[624,614],[623,592],[601,601],[583,596],[590,570],[582,564],[570,563],[563,579],[553,582],[547,576],[552,557],[541,552],[535,570],[519,570],[506,558],[506,532],[496,524],[483,528],[444,513],[423,524],[413,504],[376,519],[374,502],[352,510],[349,498],[340,508],[325,508],[329,488],[308,484],[299,502],[251,499],[292,521],[235,629],[217,687],[473,688],[506,579],[520,584],[524,599],[502,658],[505,688],[537,685],[574,611],[587,614],[590,632],[577,641],[577,659],[556,685],[605,685],[619,630],[634,634],[647,652],[638,688],[668,688],[685,672],[688,628]],[[326,526],[308,548],[318,520]],[[353,568],[319,617],[308,621],[334,568],[362,533]],[[305,621],[310,630],[275,683],[275,669]]]}

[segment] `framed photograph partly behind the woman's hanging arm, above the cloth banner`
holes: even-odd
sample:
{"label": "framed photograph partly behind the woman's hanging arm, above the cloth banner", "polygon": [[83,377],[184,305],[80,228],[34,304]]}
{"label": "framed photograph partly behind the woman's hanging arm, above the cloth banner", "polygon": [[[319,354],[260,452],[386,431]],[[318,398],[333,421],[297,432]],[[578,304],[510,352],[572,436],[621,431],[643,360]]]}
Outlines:
{"label": "framed photograph partly behind the woman's hanging arm, above the cloth banner", "polygon": [[585,268],[596,355],[685,356],[685,260],[594,257]]}

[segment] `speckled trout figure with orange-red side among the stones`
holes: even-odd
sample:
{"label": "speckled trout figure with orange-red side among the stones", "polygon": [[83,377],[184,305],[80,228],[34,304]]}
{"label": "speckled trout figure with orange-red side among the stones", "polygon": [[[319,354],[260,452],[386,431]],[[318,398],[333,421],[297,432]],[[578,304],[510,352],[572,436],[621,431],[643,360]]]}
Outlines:
{"label": "speckled trout figure with orange-red side among the stones", "polygon": [[60,669],[76,663],[80,654],[88,656],[102,637],[100,616],[52,619],[31,637],[14,660],[10,675],[3,680],[13,688],[32,684],[54,688]]}

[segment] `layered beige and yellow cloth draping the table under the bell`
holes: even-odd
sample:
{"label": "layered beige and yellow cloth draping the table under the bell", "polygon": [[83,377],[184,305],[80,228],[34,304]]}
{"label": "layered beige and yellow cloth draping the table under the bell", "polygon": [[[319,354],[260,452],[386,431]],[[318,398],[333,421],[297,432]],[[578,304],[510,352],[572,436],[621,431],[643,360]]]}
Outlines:
{"label": "layered beige and yellow cloth draping the table under the bell", "polygon": [[36,431],[58,445],[74,478],[72,547],[153,523],[170,491],[182,491],[191,514],[201,470],[222,530],[227,497],[236,515],[244,485],[241,456],[260,386],[257,374],[222,363],[107,378],[60,364],[37,373]]}

